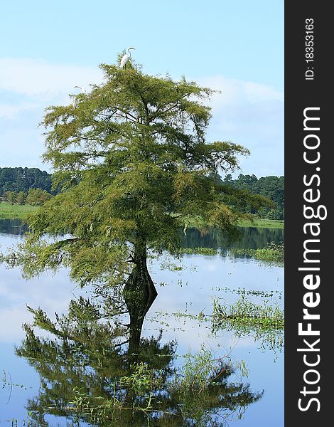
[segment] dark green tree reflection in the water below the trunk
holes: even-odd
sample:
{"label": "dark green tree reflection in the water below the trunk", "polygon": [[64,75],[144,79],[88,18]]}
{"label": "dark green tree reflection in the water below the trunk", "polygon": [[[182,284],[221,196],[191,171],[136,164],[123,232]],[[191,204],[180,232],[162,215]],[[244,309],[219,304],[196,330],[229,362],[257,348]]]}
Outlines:
{"label": "dark green tree reflection in the water below the trunk", "polygon": [[[154,298],[131,303],[126,296],[130,323],[110,317],[105,304],[80,298],[68,315],[51,321],[43,310],[33,310],[34,326],[50,333],[38,337],[24,325],[26,339],[16,353],[26,357],[41,376],[41,388],[27,409],[41,426],[45,415],[98,426],[224,426],[240,417],[261,398],[249,384],[233,382],[232,368],[215,364],[201,383],[185,381],[176,369],[176,344],[141,338],[144,316]],[[121,311],[122,302],[118,305]],[[135,309],[135,310],[134,310]],[[198,379],[199,377],[195,377]],[[72,424],[72,425],[73,425]]]}

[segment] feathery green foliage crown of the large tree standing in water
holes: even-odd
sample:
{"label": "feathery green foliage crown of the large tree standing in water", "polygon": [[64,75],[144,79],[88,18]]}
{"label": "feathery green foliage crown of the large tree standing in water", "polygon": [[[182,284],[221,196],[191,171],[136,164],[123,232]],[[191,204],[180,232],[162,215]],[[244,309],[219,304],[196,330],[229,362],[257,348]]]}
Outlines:
{"label": "feathery green foliage crown of the large tree standing in water", "polygon": [[135,264],[142,278],[149,249],[181,253],[179,228],[189,218],[237,236],[237,221],[249,218],[242,206],[268,204],[217,185],[218,171],[234,171],[249,152],[206,141],[212,90],[134,64],[101,67],[102,85],[45,114],[43,158],[62,190],[31,216],[31,236],[12,254],[26,275],[63,264],[80,285],[110,286],[124,283]]}

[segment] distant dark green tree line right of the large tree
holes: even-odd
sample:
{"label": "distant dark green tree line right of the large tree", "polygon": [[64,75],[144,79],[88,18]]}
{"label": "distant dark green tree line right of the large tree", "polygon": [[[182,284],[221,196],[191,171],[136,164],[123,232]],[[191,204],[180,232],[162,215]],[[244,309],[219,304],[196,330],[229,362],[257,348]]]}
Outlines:
{"label": "distant dark green tree line right of the large tree", "polygon": [[[221,184],[233,186],[236,189],[249,190],[254,194],[266,196],[274,202],[274,207],[262,208],[259,216],[268,219],[284,219],[284,176],[262,176],[239,174],[237,179],[232,179],[228,174]],[[245,209],[254,214],[252,207]]]}

